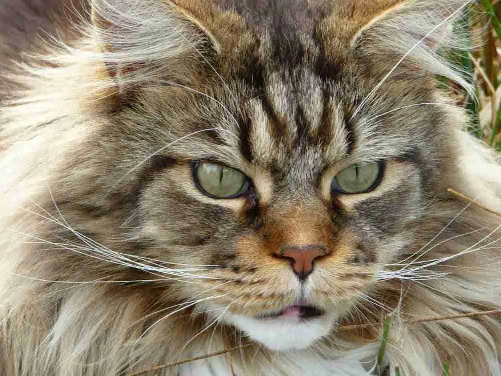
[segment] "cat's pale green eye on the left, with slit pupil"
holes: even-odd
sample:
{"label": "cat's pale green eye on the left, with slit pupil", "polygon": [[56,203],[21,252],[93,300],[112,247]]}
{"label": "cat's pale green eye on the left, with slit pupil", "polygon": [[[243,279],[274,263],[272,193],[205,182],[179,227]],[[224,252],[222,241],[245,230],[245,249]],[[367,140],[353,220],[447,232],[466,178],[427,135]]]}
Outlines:
{"label": "cat's pale green eye on the left, with slit pupil", "polygon": [[249,188],[247,176],[216,163],[195,162],[193,177],[198,189],[213,199],[235,199]]}

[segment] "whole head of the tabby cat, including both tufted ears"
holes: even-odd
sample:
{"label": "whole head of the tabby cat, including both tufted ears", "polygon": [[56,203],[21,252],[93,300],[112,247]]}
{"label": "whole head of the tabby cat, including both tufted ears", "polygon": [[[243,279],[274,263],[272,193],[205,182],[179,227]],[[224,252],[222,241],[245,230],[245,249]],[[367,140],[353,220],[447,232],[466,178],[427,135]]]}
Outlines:
{"label": "whole head of the tabby cat, including both tufted ears", "polygon": [[435,77],[467,86],[436,52],[465,4],[240,3],[93,2],[92,132],[56,197],[129,280],[169,278],[156,304],[303,348],[434,235],[462,124]]}

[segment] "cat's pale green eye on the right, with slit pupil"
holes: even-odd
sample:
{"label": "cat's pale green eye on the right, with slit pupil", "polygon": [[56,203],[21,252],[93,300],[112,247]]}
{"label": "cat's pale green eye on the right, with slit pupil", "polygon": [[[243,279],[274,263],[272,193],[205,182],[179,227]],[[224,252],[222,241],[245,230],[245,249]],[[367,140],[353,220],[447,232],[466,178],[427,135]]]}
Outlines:
{"label": "cat's pale green eye on the right, with slit pupil", "polygon": [[359,163],[345,168],[332,180],[333,192],[343,194],[368,193],[381,182],[383,163]]}

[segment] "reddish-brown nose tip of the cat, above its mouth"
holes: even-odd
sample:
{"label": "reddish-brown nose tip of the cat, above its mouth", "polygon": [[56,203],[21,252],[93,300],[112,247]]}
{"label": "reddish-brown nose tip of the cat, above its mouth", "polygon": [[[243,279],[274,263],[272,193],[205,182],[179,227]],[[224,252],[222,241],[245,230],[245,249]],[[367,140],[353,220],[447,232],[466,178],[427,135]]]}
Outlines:
{"label": "reddish-brown nose tip of the cat, above its mouth", "polygon": [[302,281],[313,271],[313,262],[327,254],[327,247],[322,245],[282,246],[276,252],[278,257],[291,261],[292,270]]}

